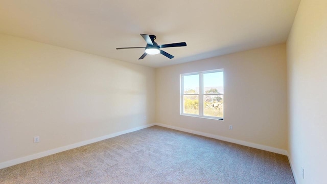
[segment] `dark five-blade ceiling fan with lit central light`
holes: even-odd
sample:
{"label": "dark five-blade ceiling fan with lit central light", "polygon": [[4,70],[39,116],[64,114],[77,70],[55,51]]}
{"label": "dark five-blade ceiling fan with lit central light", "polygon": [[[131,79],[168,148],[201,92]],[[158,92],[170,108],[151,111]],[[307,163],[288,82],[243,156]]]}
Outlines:
{"label": "dark five-blade ceiling fan with lit central light", "polygon": [[120,49],[140,49],[143,48],[145,49],[144,54],[139,57],[138,59],[143,59],[144,57],[146,57],[146,55],[150,54],[150,55],[154,55],[154,54],[162,54],[166,57],[168,57],[169,59],[174,58],[173,55],[168,54],[165,51],[160,50],[161,48],[169,48],[169,47],[184,47],[186,46],[186,42],[180,42],[180,43],[170,43],[170,44],[162,44],[162,45],[158,45],[154,40],[156,39],[155,35],[147,35],[147,34],[140,34],[143,39],[147,42],[146,47],[130,47],[130,48],[116,48],[117,50]]}

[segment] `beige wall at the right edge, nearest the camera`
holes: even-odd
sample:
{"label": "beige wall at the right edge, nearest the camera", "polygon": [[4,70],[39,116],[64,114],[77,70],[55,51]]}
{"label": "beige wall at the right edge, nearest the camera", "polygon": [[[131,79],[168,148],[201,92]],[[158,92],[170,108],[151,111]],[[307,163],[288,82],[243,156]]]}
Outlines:
{"label": "beige wall at the right edge, nearest the camera", "polygon": [[302,0],[287,41],[289,155],[298,184],[327,183],[326,7],[326,0]]}

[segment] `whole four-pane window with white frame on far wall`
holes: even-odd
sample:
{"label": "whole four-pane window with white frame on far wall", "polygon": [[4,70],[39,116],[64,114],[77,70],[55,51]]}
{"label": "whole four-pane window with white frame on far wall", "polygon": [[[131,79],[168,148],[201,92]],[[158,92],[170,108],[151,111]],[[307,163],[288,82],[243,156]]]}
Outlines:
{"label": "whole four-pane window with white frame on far wall", "polygon": [[180,113],[223,120],[224,71],[181,74]]}

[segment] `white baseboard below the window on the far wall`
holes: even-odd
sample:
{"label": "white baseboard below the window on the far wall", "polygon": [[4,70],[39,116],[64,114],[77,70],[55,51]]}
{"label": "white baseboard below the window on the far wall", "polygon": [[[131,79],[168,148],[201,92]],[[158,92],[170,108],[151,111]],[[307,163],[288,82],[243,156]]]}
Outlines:
{"label": "white baseboard below the window on the far wall", "polygon": [[200,132],[200,131],[195,131],[195,130],[190,130],[190,129],[186,129],[186,128],[175,127],[175,126],[161,124],[161,123],[154,123],[154,124],[155,125],[158,125],[158,126],[166,127],[166,128],[171,128],[171,129],[174,129],[174,130],[179,130],[179,131],[183,131],[183,132],[193,133],[193,134],[202,135],[202,136],[210,137],[210,138],[221,140],[221,141],[226,141],[226,142],[235,143],[235,144],[239,144],[239,145],[243,145],[243,146],[248,146],[248,147],[251,147],[251,148],[256,148],[256,149],[261,149],[261,150],[265,150],[265,151],[270,151],[270,152],[278,153],[278,154],[282,154],[282,155],[288,155],[286,150],[279,149],[279,148],[273,148],[273,147],[270,147],[270,146],[265,146],[265,145],[250,143],[250,142],[246,142],[246,141],[231,139],[229,137],[224,137],[224,136],[215,135],[215,134],[211,134],[211,133],[204,133],[204,132]]}

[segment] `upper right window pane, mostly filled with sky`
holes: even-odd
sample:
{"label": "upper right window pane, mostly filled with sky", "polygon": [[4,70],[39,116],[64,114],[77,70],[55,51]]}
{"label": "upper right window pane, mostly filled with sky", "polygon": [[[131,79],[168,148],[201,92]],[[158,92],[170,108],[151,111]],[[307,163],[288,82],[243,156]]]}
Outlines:
{"label": "upper right window pane, mostly filled with sky", "polygon": [[203,94],[224,94],[224,72],[203,74]]}

